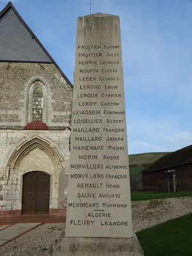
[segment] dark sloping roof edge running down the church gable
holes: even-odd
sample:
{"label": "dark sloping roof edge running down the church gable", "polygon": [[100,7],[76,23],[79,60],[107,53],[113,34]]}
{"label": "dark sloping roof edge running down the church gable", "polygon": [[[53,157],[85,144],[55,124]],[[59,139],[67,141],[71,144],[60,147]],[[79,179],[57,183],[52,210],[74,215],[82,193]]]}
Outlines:
{"label": "dark sloping roof edge running down the church gable", "polygon": [[26,22],[22,19],[22,17],[20,16],[19,12],[17,12],[17,10],[15,9],[15,6],[13,6],[13,3],[10,1],[8,2],[8,4],[6,4],[6,6],[4,7],[4,9],[0,12],[0,18],[1,16],[4,15],[4,13],[6,13],[8,11],[9,8],[12,8],[13,12],[15,12],[15,15],[17,15],[17,17],[19,18],[20,22],[22,22],[22,24],[25,26],[26,29],[28,29],[29,33],[31,34],[31,36],[34,37],[34,39],[36,40],[37,44],[40,45],[40,47],[42,48],[42,50],[45,52],[45,54],[47,54],[47,56],[49,57],[49,59],[51,60],[51,62],[56,66],[56,68],[58,68],[58,70],[61,73],[61,76],[64,77],[64,79],[67,81],[67,83],[73,87],[72,83],[69,81],[69,79],[67,78],[67,76],[65,76],[65,74],[63,73],[63,71],[61,70],[61,68],[58,66],[58,64],[56,63],[56,61],[54,61],[54,59],[51,57],[51,55],[49,54],[49,52],[47,52],[47,50],[45,49],[44,45],[42,45],[42,43],[40,42],[40,40],[38,40],[38,38],[36,37],[35,33],[33,33],[33,31],[29,28],[28,24],[26,24]]}

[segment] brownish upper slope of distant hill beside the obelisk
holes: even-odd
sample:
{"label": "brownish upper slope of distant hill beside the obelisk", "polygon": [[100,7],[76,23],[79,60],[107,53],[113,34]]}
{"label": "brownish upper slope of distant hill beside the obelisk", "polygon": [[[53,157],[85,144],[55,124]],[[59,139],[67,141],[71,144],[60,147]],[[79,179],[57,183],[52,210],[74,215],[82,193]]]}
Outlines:
{"label": "brownish upper slope of distant hill beside the obelisk", "polygon": [[155,153],[129,155],[129,166],[131,168],[136,168],[136,167],[145,168],[168,153],[169,152],[155,152]]}

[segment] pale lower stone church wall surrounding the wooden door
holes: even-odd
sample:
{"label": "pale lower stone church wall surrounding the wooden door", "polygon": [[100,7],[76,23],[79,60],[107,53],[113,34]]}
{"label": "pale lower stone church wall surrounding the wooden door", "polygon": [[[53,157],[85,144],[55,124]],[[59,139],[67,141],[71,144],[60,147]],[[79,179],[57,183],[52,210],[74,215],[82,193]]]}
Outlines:
{"label": "pale lower stone church wall surrounding the wooden door", "polygon": [[[50,210],[52,214],[56,214],[56,209],[65,207],[68,189],[68,161],[69,152],[69,136],[68,129],[60,131],[31,131],[22,130],[15,131],[13,129],[0,130],[0,216],[7,215],[6,211],[19,211],[22,208],[22,176],[24,173],[32,171],[47,172],[51,175],[51,198]],[[28,141],[34,139],[47,140],[47,145],[52,142],[50,147],[56,147],[63,156],[61,166],[55,166],[54,161],[43,146],[29,148],[26,147],[24,157],[15,166],[10,166],[9,159],[15,151],[21,148],[21,145],[27,145]],[[49,138],[49,139],[48,139]],[[13,158],[13,157],[12,157]],[[54,210],[55,209],[55,210]]]}

